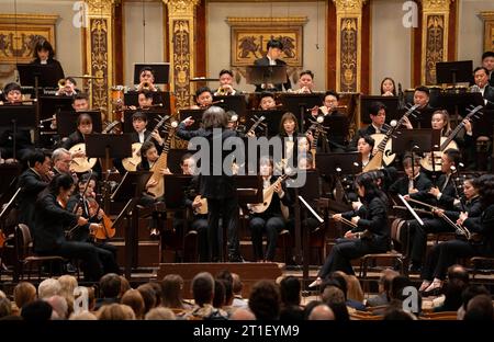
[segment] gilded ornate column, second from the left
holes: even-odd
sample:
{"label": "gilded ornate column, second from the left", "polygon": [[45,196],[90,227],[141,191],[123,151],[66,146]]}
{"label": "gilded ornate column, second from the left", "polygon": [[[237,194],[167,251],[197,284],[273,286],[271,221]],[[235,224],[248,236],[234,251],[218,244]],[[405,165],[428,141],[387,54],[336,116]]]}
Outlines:
{"label": "gilded ornate column, second from the left", "polygon": [[176,106],[190,105],[194,91],[190,78],[194,73],[194,30],[195,7],[200,0],[164,0],[168,5],[169,54],[171,91],[176,95]]}

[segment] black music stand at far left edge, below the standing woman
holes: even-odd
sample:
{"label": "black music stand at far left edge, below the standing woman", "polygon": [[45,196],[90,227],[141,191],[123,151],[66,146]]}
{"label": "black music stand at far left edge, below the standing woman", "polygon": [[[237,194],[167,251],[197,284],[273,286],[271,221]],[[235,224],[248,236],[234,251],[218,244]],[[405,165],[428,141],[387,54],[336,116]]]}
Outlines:
{"label": "black music stand at far left edge, below the standing woman", "polygon": [[37,129],[37,123],[35,105],[0,105],[0,127],[7,128],[5,130],[12,127],[12,158],[14,160],[16,159],[18,130]]}

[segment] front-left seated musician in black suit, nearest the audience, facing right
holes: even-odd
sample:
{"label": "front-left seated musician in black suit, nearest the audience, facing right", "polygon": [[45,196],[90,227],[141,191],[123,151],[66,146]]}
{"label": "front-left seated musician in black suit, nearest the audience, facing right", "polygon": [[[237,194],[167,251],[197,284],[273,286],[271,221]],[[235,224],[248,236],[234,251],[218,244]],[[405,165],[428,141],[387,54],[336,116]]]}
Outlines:
{"label": "front-left seated musician in black suit, nearest the audience, facing right", "polygon": [[[120,273],[111,252],[87,242],[67,241],[65,238],[66,228],[88,224],[88,219],[65,208],[72,190],[72,178],[58,174],[40,195],[35,213],[34,251],[40,255],[60,255],[83,261],[82,270],[88,282],[98,282],[105,273]],[[90,229],[94,228],[96,226],[90,226]]]}

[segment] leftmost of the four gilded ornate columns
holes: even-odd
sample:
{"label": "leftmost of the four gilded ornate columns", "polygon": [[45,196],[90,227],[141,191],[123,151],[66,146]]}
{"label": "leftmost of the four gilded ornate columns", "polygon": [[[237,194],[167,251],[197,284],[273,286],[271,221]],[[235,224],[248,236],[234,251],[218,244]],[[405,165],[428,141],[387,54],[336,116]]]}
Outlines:
{"label": "leftmost of the four gilded ornate columns", "polygon": [[113,7],[120,0],[86,0],[85,27],[86,73],[97,77],[89,83],[92,107],[101,109],[102,118],[110,119],[110,89],[113,86]]}

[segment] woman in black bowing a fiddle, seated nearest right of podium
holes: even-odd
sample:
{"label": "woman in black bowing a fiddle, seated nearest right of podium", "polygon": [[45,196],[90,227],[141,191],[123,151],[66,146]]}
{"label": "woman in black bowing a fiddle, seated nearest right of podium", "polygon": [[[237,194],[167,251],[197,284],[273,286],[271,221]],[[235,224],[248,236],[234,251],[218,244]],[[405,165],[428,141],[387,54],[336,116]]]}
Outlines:
{"label": "woman in black bowing a fiddle, seated nearest right of podium", "polygon": [[[310,285],[314,287],[321,285],[330,273],[343,271],[346,274],[355,274],[351,260],[369,253],[382,253],[390,249],[390,226],[388,225],[388,198],[379,189],[374,176],[361,173],[356,179],[358,194],[366,207],[359,214],[364,217],[355,216],[356,212],[333,215],[335,220],[341,217],[350,220],[355,228],[345,233],[327,256],[323,267],[317,274],[317,278]],[[359,238],[357,232],[361,232]]]}

